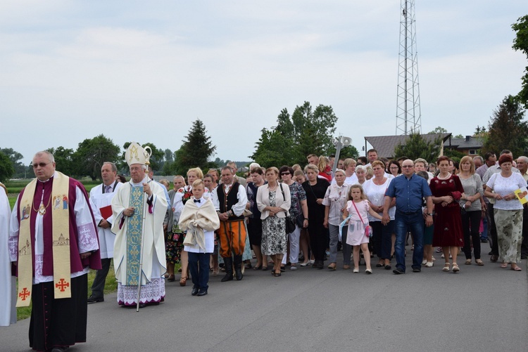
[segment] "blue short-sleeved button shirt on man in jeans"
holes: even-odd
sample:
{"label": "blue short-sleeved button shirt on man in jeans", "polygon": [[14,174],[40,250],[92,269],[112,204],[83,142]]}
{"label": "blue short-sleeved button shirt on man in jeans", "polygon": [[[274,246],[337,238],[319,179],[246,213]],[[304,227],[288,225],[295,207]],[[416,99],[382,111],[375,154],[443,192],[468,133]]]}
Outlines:
{"label": "blue short-sleeved button shirt on man in jeans", "polygon": [[431,197],[431,189],[425,178],[413,174],[410,178],[405,175],[395,177],[386,189],[385,195],[396,197],[396,210],[404,213],[422,210],[424,197]]}

